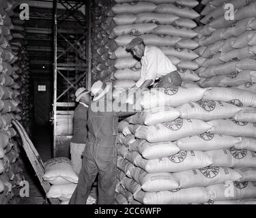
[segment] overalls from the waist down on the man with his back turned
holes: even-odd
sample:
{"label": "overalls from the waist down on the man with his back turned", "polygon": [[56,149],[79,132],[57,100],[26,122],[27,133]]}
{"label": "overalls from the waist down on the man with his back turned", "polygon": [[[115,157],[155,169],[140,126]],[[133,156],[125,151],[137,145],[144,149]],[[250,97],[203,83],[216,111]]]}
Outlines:
{"label": "overalls from the waist down on the man with his back turned", "polygon": [[98,174],[98,204],[115,204],[116,146],[100,146],[87,142],[79,183],[70,204],[86,204],[91,185]]}

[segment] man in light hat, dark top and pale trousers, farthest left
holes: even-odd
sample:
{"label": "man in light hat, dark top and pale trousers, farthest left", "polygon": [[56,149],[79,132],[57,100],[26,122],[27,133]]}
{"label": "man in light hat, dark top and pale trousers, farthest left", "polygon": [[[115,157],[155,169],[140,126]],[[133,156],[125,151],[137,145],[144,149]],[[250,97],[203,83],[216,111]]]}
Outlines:
{"label": "man in light hat, dark top and pale trousers, farthest left", "polygon": [[82,153],[85,149],[88,128],[87,112],[91,102],[90,92],[85,88],[76,91],[76,102],[79,102],[74,110],[73,118],[73,137],[70,142],[71,163],[74,171],[79,174],[82,166]]}

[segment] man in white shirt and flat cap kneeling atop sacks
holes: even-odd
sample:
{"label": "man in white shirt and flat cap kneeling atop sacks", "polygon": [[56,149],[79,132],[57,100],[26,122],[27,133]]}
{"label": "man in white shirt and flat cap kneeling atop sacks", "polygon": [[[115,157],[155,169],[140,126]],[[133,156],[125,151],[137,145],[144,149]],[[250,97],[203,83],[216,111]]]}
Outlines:
{"label": "man in white shirt and flat cap kneeling atop sacks", "polygon": [[143,39],[136,37],[126,49],[141,59],[141,78],[132,88],[135,90],[147,88],[155,82],[158,82],[159,88],[181,86],[182,78],[177,73],[177,68],[158,47],[145,46]]}

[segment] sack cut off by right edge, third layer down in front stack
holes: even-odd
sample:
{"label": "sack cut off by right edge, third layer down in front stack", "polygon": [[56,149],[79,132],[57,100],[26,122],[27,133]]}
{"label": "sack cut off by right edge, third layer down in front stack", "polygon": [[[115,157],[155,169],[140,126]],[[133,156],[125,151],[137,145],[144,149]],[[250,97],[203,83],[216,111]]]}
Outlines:
{"label": "sack cut off by right edge, third layer down in front stack", "polygon": [[256,123],[239,122],[233,119],[219,119],[208,122],[213,134],[256,138]]}

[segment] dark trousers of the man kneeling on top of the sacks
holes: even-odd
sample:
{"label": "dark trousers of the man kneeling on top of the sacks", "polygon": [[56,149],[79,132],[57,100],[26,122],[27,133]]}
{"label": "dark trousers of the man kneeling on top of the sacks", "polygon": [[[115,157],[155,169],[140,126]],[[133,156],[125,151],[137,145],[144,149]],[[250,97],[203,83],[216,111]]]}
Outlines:
{"label": "dark trousers of the man kneeling on top of the sacks", "polygon": [[158,88],[168,88],[168,87],[180,87],[182,85],[182,78],[180,77],[180,74],[178,74],[176,71],[171,72],[165,76],[162,76],[159,79]]}

